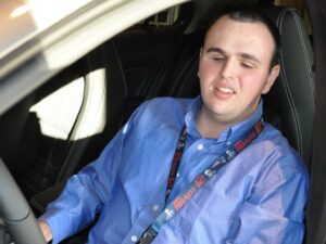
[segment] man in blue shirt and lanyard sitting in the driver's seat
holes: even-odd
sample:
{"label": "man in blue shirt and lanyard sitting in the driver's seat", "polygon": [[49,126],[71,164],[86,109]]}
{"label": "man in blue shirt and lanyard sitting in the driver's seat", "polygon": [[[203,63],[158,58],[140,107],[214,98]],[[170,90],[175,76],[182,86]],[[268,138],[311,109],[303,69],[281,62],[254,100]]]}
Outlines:
{"label": "man in blue shirt and lanyard sitting in the driver's seat", "polygon": [[301,243],[306,170],[260,123],[278,46],[275,27],[254,11],[218,17],[200,53],[201,97],[142,104],[50,204],[40,218],[47,240],[58,243],[99,214],[88,243]]}

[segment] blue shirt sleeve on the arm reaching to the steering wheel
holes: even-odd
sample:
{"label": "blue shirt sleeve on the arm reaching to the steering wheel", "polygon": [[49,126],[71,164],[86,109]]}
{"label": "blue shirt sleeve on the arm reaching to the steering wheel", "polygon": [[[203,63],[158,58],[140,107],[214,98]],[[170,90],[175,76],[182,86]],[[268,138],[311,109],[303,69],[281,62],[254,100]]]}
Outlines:
{"label": "blue shirt sleeve on the arm reaching to the steering wheel", "polygon": [[124,143],[133,131],[136,115],[137,112],[96,162],[68,179],[62,194],[48,205],[47,211],[39,218],[50,226],[52,244],[87,227],[110,200]]}

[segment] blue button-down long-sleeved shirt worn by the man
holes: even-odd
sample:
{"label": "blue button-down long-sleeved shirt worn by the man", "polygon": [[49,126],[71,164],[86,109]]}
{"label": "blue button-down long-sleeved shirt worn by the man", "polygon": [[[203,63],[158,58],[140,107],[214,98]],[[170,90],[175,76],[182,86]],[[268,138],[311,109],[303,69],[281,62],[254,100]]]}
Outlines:
{"label": "blue button-down long-sleeved shirt worn by the man", "polygon": [[[53,244],[98,214],[88,243],[137,242],[165,206],[167,176],[183,125],[188,138],[168,201],[262,116],[261,103],[247,120],[217,139],[205,139],[196,128],[201,106],[200,98],[142,104],[100,157],[68,180],[41,217],[52,229]],[[258,139],[162,226],[153,243],[299,244],[306,195],[302,160],[266,124]]]}

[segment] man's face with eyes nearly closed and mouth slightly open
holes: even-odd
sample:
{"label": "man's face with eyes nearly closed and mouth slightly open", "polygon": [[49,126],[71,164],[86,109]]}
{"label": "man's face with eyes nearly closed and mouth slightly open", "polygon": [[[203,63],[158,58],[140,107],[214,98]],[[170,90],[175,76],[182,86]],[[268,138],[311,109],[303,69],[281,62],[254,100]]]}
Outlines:
{"label": "man's face with eyes nearly closed and mouth slightly open", "polygon": [[200,56],[203,113],[228,125],[249,117],[279,73],[278,65],[269,67],[274,47],[264,24],[220,18]]}

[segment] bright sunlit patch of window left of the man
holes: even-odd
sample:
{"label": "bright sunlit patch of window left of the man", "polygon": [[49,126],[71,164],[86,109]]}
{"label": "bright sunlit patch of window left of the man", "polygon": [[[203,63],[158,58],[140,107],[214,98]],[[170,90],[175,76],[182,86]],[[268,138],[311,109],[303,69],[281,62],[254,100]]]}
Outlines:
{"label": "bright sunlit patch of window left of the man", "polygon": [[[84,92],[87,92],[87,99],[84,99]],[[42,134],[76,141],[103,131],[105,98],[105,69],[101,68],[57,90],[32,106],[29,112],[36,113]]]}

